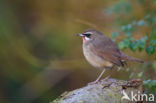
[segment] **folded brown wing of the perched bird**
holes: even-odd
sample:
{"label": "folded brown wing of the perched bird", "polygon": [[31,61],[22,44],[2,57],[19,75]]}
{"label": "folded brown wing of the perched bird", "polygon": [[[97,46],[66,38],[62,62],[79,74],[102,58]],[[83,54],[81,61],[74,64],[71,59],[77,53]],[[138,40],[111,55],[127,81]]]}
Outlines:
{"label": "folded brown wing of the perched bird", "polygon": [[124,65],[120,58],[121,52],[111,39],[102,36],[101,38],[94,40],[93,48],[92,52],[101,58],[118,66]]}

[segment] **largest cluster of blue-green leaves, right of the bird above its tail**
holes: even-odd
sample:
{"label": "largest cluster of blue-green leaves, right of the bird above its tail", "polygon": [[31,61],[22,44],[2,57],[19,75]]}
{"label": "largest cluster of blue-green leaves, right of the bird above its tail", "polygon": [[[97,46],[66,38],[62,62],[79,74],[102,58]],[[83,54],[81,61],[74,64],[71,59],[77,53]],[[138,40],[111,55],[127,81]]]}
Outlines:
{"label": "largest cluster of blue-green leaves, right of the bird above its tail", "polygon": [[[156,50],[156,38],[155,38],[156,35],[153,34],[153,31],[155,30],[155,28],[153,28],[154,30],[152,30],[150,33],[146,34],[144,37],[141,37],[138,40],[135,40],[132,35],[135,34],[135,31],[137,29],[139,29],[139,26],[148,26],[148,27],[153,25],[156,26],[156,23],[154,24],[153,23],[154,22],[150,24],[149,21],[146,21],[145,23],[144,20],[139,20],[139,21],[135,20],[131,24],[121,26],[121,31],[118,32],[124,33],[126,37],[124,40],[118,43],[118,47],[120,49],[130,48],[130,50],[132,51],[136,51],[136,50],[142,51],[143,49],[145,49],[147,54],[149,55],[154,54]],[[118,32],[114,32],[112,34],[112,38],[115,39],[117,38],[117,36],[120,36]]]}

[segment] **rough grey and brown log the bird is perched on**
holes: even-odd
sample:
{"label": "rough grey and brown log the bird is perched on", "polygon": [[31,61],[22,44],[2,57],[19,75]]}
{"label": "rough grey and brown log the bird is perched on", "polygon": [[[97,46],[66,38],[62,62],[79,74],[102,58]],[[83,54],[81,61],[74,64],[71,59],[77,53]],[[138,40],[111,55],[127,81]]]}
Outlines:
{"label": "rough grey and brown log the bird is perched on", "polygon": [[143,103],[141,101],[122,100],[123,91],[130,99],[132,91],[133,94],[138,95],[139,93],[143,93],[142,81],[140,79],[130,81],[116,79],[101,80],[97,84],[65,92],[51,103]]}

